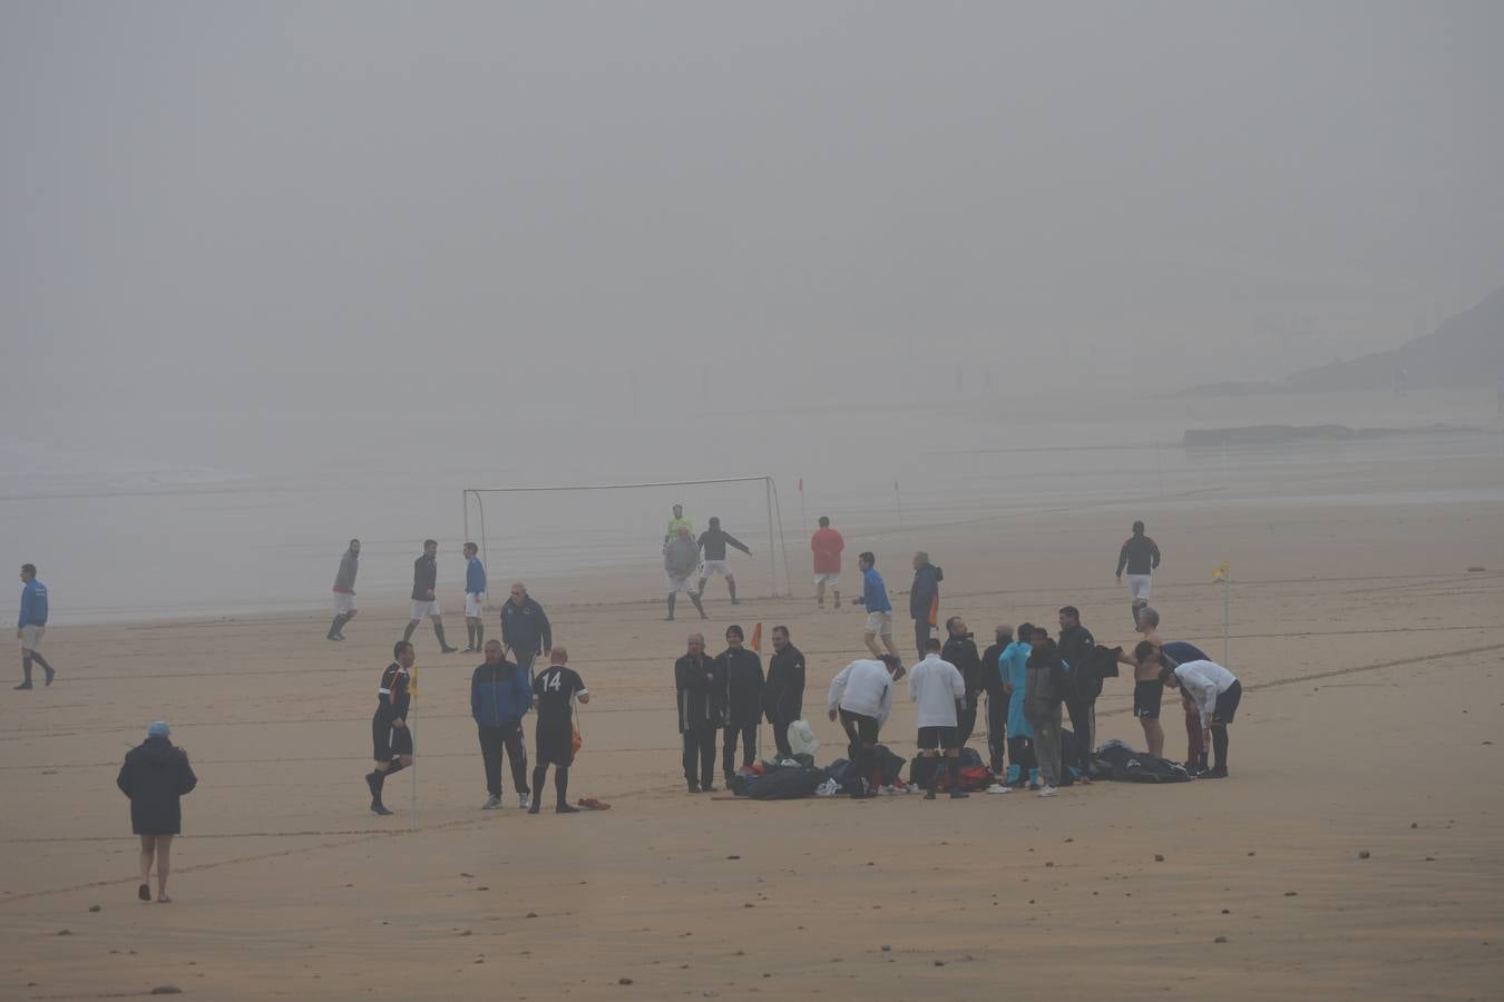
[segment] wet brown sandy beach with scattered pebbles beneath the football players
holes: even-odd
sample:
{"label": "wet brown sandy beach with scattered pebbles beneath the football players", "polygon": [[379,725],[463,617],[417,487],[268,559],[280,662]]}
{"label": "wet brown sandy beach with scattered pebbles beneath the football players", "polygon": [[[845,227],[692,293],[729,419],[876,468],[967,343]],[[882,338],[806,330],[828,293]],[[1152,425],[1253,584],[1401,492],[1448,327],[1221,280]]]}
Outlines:
{"label": "wet brown sandy beach with scattered pebbles beneath the football players", "polygon": [[[1496,469],[1448,470],[1463,496],[1496,482]],[[1265,500],[1149,506],[1164,635],[1220,656],[1209,578],[1233,560],[1229,659],[1247,696],[1226,783],[1098,783],[1054,801],[689,796],[671,664],[698,623],[587,601],[620,595],[582,578],[535,595],[596,696],[572,795],[612,808],[528,817],[508,789],[502,811],[477,810],[475,661],[439,656],[424,626],[414,825],[408,775],[388,789],[390,819],[365,811],[361,783],[400,605],[362,610],[343,644],[322,638],[322,614],[57,629],[59,682],[0,694],[14,721],[0,994],[1492,997],[1504,506],[1406,503],[1411,479],[1438,485],[1435,470],[1402,469],[1387,481],[1402,500],[1296,505],[1271,481]],[[945,613],[979,637],[1074,602],[1099,640],[1126,643],[1110,572],[1125,527],[1126,509],[1107,506],[850,542],[880,551],[895,592],[922,544],[946,571]],[[732,610],[713,584],[705,631],[719,650],[729,622],[791,628],[829,762],[844,742],[820,709],[860,652],[862,617],[817,611],[797,587]],[[459,596],[445,598],[453,637]],[[1099,732],[1142,747],[1130,688],[1108,682]],[[159,717],[200,775],[170,906],[134,900],[113,784]],[[1179,756],[1175,715],[1166,732]],[[907,699],[884,741],[913,753]]]}

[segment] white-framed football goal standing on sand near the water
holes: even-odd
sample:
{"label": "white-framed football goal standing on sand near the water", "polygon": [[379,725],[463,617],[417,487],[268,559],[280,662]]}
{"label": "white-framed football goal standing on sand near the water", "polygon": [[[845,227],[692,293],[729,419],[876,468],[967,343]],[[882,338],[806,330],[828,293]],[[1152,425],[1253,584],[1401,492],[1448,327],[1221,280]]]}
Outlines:
{"label": "white-framed football goal standing on sand near the water", "polygon": [[[772,476],[729,476],[651,484],[466,487],[465,539],[480,547],[490,601],[514,580],[570,581],[575,601],[660,598],[663,535],[683,505],[698,538],[720,527],[752,550],[726,550],[738,593],[791,595],[778,484]],[[711,583],[711,599],[723,598]]]}

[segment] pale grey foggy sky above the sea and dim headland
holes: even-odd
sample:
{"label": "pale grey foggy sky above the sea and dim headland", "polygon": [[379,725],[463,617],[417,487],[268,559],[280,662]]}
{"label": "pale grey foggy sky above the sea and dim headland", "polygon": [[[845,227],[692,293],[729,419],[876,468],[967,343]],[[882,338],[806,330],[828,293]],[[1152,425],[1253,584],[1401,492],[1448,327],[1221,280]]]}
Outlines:
{"label": "pale grey foggy sky above the sea and dim headland", "polygon": [[1486,2],[6,0],[5,415],[1281,376],[1504,284],[1501,93]]}

